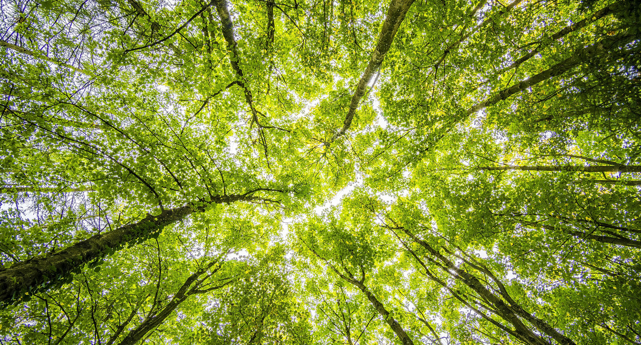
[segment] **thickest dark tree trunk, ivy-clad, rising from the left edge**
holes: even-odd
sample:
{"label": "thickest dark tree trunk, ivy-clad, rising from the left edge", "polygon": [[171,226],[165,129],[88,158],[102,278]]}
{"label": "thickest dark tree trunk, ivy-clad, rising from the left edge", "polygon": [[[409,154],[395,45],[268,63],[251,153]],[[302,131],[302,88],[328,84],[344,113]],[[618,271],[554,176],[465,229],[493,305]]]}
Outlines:
{"label": "thickest dark tree trunk, ivy-clad, rising from the left edge", "polygon": [[[211,203],[252,201],[250,194],[218,196]],[[46,257],[29,258],[0,271],[0,303],[10,303],[25,292],[48,289],[51,283],[69,277],[75,269],[92,260],[104,257],[110,251],[122,248],[135,240],[145,239],[162,231],[165,226],[185,219],[193,212],[204,211],[204,206],[185,205],[164,210],[159,215],[147,215],[138,223],[127,224],[104,234],[94,235]]]}

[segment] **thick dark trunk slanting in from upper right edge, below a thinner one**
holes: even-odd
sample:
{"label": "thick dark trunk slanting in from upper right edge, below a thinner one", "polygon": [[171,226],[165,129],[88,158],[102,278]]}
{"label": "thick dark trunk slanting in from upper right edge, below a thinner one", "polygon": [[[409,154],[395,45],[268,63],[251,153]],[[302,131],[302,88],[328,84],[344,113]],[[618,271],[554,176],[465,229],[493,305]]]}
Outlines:
{"label": "thick dark trunk slanting in from upper right edge, below a thinner one", "polygon": [[[516,83],[511,87],[505,88],[504,90],[501,90],[500,92],[488,98],[487,100],[481,103],[478,103],[477,105],[471,106],[465,112],[465,114],[470,115],[472,113],[478,112],[483,108],[486,108],[487,106],[495,105],[496,103],[499,103],[499,101],[503,101],[504,99],[507,99],[513,94],[521,92],[522,90],[526,90],[527,88],[537,85],[538,83],[544,80],[548,80],[550,78],[554,78],[555,76],[559,76],[569,71],[570,69],[578,66],[582,62],[590,61],[594,58],[597,58],[598,56],[604,55],[604,53],[608,51],[612,51],[617,47],[624,46],[625,44],[628,44],[629,42],[632,42],[635,39],[637,39],[637,35],[633,35],[628,31],[626,31],[624,33],[620,33],[619,35],[605,38],[600,42],[593,44],[592,46],[588,46],[583,49],[578,49],[577,51],[575,51],[574,55],[563,60],[562,62],[556,63],[556,65],[553,65],[549,69],[546,69],[543,72],[535,74],[534,76],[531,76],[526,80],[519,81],[519,83]],[[613,55],[613,57],[622,58],[627,55],[628,53],[625,53],[625,52],[623,53],[617,52]]]}

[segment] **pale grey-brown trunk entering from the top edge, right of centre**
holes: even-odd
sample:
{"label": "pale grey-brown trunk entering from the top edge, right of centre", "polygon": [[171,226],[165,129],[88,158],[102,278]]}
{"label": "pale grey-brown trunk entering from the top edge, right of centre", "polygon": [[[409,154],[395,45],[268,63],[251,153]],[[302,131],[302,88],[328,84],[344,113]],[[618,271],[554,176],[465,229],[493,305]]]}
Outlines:
{"label": "pale grey-brown trunk entering from the top edge, right of centre", "polygon": [[413,2],[414,0],[392,0],[392,3],[387,10],[385,22],[383,22],[383,28],[381,28],[381,33],[378,37],[378,43],[376,44],[376,48],[374,48],[374,51],[372,51],[372,58],[370,58],[365,72],[363,72],[360,81],[358,81],[358,85],[356,85],[356,91],[354,92],[352,100],[349,103],[349,111],[345,116],[343,128],[341,128],[331,137],[329,142],[326,143],[327,145],[329,145],[330,142],[333,142],[341,135],[344,135],[345,131],[347,131],[349,129],[349,126],[351,126],[352,120],[354,119],[354,114],[356,113],[356,108],[358,108],[358,103],[360,103],[361,98],[365,95],[367,84],[370,80],[372,80],[374,73],[379,69],[379,67],[381,67],[381,63],[383,63],[385,54],[387,54],[387,52],[390,50],[390,47],[392,46],[392,41],[394,40],[396,31],[399,29],[399,26],[401,26],[401,23],[403,22],[403,19],[405,18],[408,10],[410,10],[410,6],[412,6]]}

